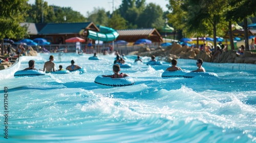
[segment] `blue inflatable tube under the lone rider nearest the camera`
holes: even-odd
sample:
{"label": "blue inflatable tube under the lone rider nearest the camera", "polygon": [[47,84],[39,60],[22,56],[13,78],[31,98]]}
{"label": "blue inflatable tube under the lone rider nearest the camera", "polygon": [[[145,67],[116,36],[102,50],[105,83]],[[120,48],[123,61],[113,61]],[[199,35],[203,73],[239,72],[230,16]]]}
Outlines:
{"label": "blue inflatable tube under the lone rider nearest the camera", "polygon": [[129,86],[135,83],[132,77],[110,78],[110,77],[102,77],[102,75],[99,75],[98,77],[96,77],[94,82],[100,85],[113,86],[113,87]]}

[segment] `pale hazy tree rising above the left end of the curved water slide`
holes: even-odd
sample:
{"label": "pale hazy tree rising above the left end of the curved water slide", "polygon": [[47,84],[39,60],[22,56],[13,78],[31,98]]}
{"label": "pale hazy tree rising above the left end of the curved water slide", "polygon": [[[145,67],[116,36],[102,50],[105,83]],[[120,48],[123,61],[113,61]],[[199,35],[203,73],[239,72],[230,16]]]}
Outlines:
{"label": "pale hazy tree rising above the left end of the curved water slide", "polygon": [[89,17],[88,21],[93,21],[97,25],[108,25],[108,16],[103,8],[94,8],[92,12],[87,12]]}

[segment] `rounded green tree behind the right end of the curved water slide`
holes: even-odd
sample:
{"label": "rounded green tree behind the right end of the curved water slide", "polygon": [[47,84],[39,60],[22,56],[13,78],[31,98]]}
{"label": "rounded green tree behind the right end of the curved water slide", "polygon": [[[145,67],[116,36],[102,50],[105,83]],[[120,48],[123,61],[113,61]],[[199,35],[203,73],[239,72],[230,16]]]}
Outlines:
{"label": "rounded green tree behind the right end of the curved water slide", "polygon": [[127,21],[121,17],[120,14],[114,12],[113,16],[108,21],[108,27],[113,29],[127,29],[126,23]]}

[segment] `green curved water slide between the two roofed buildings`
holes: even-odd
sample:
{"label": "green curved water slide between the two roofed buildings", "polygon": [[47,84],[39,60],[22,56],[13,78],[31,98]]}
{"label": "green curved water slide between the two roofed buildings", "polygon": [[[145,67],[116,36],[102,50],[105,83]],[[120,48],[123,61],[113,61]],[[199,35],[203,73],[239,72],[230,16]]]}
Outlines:
{"label": "green curved water slide between the two roofed buildings", "polygon": [[97,27],[99,28],[99,32],[88,30],[88,38],[108,42],[114,41],[119,36],[118,32],[112,28],[99,25]]}

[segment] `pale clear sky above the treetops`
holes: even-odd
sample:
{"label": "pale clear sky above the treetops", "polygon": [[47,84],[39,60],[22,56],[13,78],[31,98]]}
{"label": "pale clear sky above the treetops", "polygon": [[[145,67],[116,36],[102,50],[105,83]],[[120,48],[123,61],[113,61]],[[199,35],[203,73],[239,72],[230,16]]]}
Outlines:
{"label": "pale clear sky above the treetops", "polygon": [[[104,8],[105,11],[112,12],[113,2],[115,10],[119,8],[122,0],[44,0],[44,2],[47,2],[48,5],[71,7],[74,11],[87,17],[87,12],[92,12],[94,8]],[[159,5],[163,11],[167,11],[168,0],[146,0],[146,3],[154,3]],[[29,0],[29,4],[35,4],[35,0]]]}

